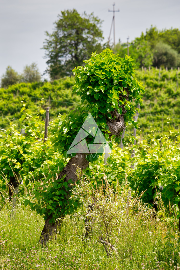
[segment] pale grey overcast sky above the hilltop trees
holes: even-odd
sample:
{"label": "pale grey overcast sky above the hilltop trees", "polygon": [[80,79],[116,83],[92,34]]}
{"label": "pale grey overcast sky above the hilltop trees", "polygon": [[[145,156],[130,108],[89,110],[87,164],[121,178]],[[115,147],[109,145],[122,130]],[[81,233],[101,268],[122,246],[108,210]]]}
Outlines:
{"label": "pale grey overcast sky above the hilltop trees", "polygon": [[[116,0],[115,38],[130,41],[150,28],[180,29],[179,0]],[[25,65],[38,64],[41,73],[46,69],[44,50],[45,31],[52,32],[53,22],[65,9],[75,8],[80,14],[94,12],[102,19],[104,41],[107,41],[113,12],[110,0],[0,0],[0,77],[8,65],[21,73]],[[111,36],[111,39],[113,36]],[[47,77],[47,76],[44,76]]]}

